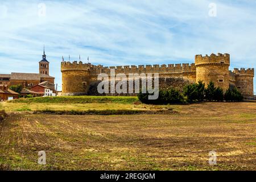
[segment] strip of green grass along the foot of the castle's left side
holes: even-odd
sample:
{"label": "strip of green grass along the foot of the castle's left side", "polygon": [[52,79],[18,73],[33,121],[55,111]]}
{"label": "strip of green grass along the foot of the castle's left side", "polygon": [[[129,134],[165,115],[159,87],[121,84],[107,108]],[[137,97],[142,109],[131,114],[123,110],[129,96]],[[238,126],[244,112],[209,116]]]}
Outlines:
{"label": "strip of green grass along the foot of the castle's left side", "polygon": [[60,96],[60,97],[34,97],[11,100],[12,103],[65,103],[65,104],[86,104],[86,103],[119,103],[133,104],[138,102],[137,97],[127,96]]}

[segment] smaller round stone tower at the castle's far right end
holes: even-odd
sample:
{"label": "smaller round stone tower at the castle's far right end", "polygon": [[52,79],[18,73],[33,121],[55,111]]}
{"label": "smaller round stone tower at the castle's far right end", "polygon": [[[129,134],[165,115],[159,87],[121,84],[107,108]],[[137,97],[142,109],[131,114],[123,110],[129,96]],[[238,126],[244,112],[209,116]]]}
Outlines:
{"label": "smaller round stone tower at the castle's far right end", "polygon": [[254,77],[254,68],[253,69],[237,69],[234,68],[233,73],[236,75],[236,86],[237,89],[242,93],[243,97],[247,99],[253,99],[253,77]]}

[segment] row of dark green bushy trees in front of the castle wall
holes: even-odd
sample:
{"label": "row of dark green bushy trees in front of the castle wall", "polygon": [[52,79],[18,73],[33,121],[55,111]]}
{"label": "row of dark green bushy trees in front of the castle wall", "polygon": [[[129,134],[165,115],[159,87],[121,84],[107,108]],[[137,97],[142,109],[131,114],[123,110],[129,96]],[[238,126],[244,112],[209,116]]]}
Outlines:
{"label": "row of dark green bushy trees in front of the castle wall", "polygon": [[215,87],[214,82],[210,81],[207,86],[203,81],[194,84],[185,85],[183,92],[175,88],[159,89],[159,97],[157,100],[148,100],[149,93],[138,94],[139,100],[144,104],[182,104],[201,101],[227,101],[241,102],[243,96],[237,88],[229,88],[224,93],[220,87]]}

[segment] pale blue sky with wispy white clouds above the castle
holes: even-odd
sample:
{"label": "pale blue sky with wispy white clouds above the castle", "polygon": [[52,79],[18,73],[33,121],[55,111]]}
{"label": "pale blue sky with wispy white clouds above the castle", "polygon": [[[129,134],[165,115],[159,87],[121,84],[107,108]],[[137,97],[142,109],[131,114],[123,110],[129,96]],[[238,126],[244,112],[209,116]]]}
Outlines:
{"label": "pale blue sky with wispy white clouds above the castle", "polygon": [[193,63],[220,52],[230,53],[230,69],[256,68],[255,9],[254,0],[0,0],[0,73],[38,72],[43,45],[59,85],[68,55],[110,66]]}

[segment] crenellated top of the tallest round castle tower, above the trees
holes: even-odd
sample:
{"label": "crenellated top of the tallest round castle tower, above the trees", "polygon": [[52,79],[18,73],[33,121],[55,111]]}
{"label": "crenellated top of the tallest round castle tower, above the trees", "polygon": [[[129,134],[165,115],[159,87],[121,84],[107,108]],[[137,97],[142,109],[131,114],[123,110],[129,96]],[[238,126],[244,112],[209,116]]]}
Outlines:
{"label": "crenellated top of the tallest round castle tower, above the trees", "polygon": [[210,56],[205,55],[196,55],[195,56],[195,64],[196,66],[205,65],[205,64],[223,64],[230,65],[230,55],[228,53],[212,53]]}

